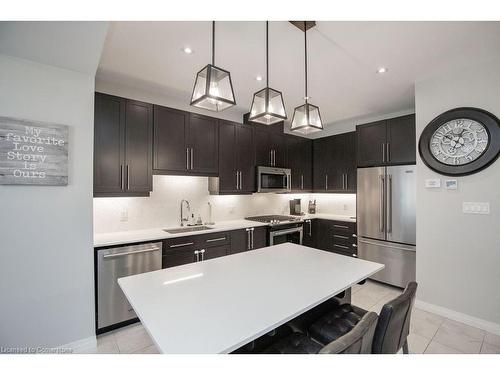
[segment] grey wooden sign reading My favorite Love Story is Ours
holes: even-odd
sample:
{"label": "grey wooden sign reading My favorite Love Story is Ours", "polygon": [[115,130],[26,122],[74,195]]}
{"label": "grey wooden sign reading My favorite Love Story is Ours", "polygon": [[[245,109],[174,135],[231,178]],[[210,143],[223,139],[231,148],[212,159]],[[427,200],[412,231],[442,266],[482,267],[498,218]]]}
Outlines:
{"label": "grey wooden sign reading My favorite Love Story is Ours", "polygon": [[68,126],[0,117],[0,185],[67,185]]}

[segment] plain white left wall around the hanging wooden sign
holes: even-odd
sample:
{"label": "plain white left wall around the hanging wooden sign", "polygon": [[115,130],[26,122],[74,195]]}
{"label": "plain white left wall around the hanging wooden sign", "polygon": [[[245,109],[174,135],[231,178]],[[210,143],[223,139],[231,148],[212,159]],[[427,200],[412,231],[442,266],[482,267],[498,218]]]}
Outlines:
{"label": "plain white left wall around the hanging wooden sign", "polygon": [[0,116],[66,124],[69,184],[0,185],[0,346],[94,335],[94,78],[0,55]]}

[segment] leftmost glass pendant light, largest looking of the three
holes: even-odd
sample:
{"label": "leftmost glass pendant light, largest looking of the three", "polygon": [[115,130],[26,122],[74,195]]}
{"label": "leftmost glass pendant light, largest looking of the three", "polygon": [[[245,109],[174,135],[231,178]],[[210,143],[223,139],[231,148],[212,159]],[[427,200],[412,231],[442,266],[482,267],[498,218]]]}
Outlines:
{"label": "leftmost glass pendant light, largest looking of the three", "polygon": [[215,21],[212,21],[212,63],[196,75],[191,105],[219,112],[235,104],[231,73],[215,66]]}

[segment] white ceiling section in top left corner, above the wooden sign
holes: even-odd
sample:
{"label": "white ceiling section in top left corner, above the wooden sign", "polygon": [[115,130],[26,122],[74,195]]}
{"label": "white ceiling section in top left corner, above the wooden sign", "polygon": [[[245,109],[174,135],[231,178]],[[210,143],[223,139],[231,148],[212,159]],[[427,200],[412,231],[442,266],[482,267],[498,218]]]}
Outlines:
{"label": "white ceiling section in top left corner, above the wooden sign", "polygon": [[0,22],[0,53],[95,74],[108,22]]}

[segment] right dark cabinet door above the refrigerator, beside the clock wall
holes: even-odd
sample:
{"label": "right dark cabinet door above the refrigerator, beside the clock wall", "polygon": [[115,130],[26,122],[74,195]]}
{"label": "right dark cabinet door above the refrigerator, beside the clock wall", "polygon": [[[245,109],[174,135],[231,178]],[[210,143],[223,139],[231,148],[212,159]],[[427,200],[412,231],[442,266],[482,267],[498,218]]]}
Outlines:
{"label": "right dark cabinet door above the refrigerator, beside the clock wall", "polygon": [[415,164],[415,115],[387,120],[387,163]]}

